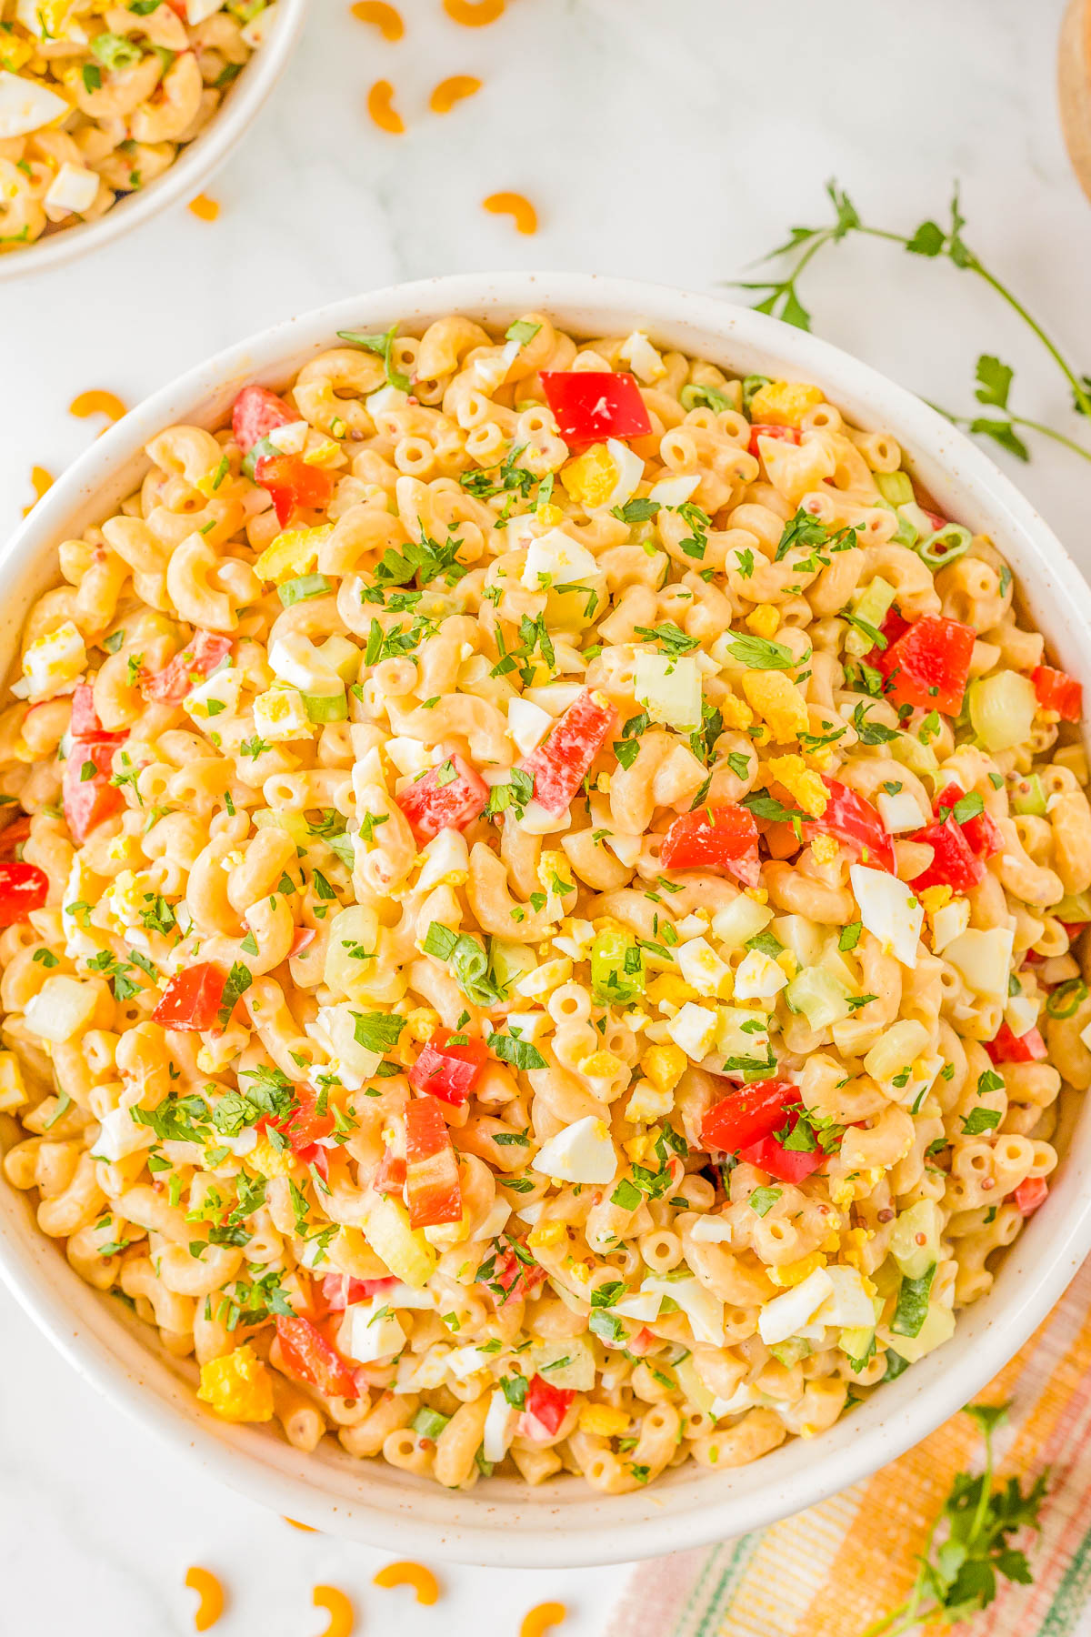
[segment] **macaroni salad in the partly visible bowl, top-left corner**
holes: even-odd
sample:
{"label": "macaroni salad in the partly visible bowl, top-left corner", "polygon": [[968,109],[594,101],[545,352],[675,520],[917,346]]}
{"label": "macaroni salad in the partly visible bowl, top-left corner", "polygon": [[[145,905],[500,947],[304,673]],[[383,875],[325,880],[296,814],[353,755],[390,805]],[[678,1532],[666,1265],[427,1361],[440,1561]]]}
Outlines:
{"label": "macaroni salad in the partly visible bowl, top-left corner", "polygon": [[272,15],[267,0],[0,0],[0,254],[162,175]]}

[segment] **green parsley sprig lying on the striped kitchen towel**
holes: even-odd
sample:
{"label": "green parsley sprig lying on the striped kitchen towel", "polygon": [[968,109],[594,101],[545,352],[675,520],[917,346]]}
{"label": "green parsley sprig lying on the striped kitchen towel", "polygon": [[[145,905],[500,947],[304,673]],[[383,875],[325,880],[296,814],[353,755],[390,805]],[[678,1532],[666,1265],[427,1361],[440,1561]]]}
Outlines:
{"label": "green parsley sprig lying on the striped kitchen towel", "polygon": [[993,1490],[993,1432],[1006,1419],[1008,1405],[967,1405],[965,1413],[985,1436],[985,1468],[977,1477],[955,1473],[924,1544],[909,1596],[872,1621],[860,1637],[900,1637],[932,1622],[957,1626],[988,1608],[998,1591],[998,1575],[1022,1586],[1030,1583],[1027,1555],[1011,1545],[1011,1537],[1021,1529],[1040,1527],[1047,1475],[1040,1473],[1026,1495],[1019,1478]]}

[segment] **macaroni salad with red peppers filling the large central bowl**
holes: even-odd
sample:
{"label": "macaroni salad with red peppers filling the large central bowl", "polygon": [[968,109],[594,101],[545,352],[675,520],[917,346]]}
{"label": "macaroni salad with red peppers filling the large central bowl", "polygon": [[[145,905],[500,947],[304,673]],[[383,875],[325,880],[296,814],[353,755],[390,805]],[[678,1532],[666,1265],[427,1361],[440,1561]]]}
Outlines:
{"label": "macaroni salad with red peppers filling the large central bowl", "polygon": [[448,1486],[748,1462],[947,1341],[1091,1084],[1081,691],[994,545],[818,386],[541,313],[147,457],[0,715],[72,1267]]}

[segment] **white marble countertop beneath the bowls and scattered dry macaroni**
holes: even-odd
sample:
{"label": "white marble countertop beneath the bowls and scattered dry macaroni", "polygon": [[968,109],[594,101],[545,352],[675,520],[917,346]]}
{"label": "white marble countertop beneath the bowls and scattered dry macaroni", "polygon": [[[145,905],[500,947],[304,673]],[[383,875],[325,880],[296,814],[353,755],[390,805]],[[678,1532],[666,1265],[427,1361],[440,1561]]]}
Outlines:
{"label": "white marble countertop beneath the bowls and scattered dry macaroni", "polygon": [[[1091,370],[1091,206],[1055,111],[1063,0],[509,0],[465,29],[438,0],[404,0],[386,44],[347,0],[314,0],[309,38],[244,149],[211,183],[218,223],[185,210],[87,264],[0,295],[0,535],[29,501],[31,465],[59,471],[95,427],[85,388],[136,403],[209,352],[355,290],[473,268],[594,268],[713,288],[823,221],[836,175],[869,219],[901,229],[945,211],[962,178],[967,237]],[[447,118],[432,85],[484,90]],[[375,79],[407,133],[370,124]],[[538,206],[519,237],[479,208],[502,188]],[[743,275],[744,277],[744,275]],[[852,242],[806,283],[815,327],[952,409],[972,408],[978,352],[1017,368],[1024,414],[1091,444],[1035,344],[949,265]],[[1039,444],[1006,460],[1091,570],[1088,470]],[[592,1637],[625,1578],[445,1570],[415,1609],[370,1586],[383,1562],[303,1536],[209,1486],[80,1383],[0,1292],[0,1583],[10,1629],[54,1637],[191,1630],[188,1563],[232,1593],[224,1637],[324,1629],[311,1586],[357,1598],[361,1632],[517,1634],[559,1598],[564,1637]],[[33,1622],[33,1626],[31,1626]],[[649,1632],[648,1637],[659,1637]]]}

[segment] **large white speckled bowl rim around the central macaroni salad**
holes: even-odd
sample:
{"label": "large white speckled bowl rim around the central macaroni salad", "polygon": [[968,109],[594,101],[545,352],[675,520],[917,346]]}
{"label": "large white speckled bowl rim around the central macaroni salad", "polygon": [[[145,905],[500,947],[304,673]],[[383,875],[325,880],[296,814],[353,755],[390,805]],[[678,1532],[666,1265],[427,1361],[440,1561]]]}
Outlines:
{"label": "large white speckled bowl rim around the central macaroni salad", "polygon": [[[577,334],[626,334],[643,324],[659,342],[739,373],[821,383],[854,422],[903,444],[950,517],[993,535],[1060,663],[1089,676],[1088,586],[1008,478],[932,409],[826,342],[715,296],[574,273],[466,275],[379,290],[265,331],[164,388],[98,439],[0,553],[0,660],[13,652],[28,602],[54,578],[57,542],[98,522],[136,486],[154,432],[175,421],[221,424],[244,381],[283,386],[339,329],[376,332],[396,319],[419,329],[450,311],[504,327],[537,308]],[[26,1195],[0,1184],[0,1274],[82,1375],[146,1427],[237,1490],[319,1529],[399,1554],[497,1565],[654,1557],[772,1522],[854,1483],[972,1398],[1027,1339],[1089,1249],[1084,1112],[1045,1206],[1016,1241],[994,1290],[960,1318],[954,1341],[829,1432],[793,1439],[731,1472],[689,1463],[636,1495],[602,1496],[576,1478],[537,1490],[489,1480],[461,1495],[381,1460],[350,1460],[335,1445],[301,1455],[268,1429],[214,1423],[193,1400],[191,1365],[164,1357],[152,1329],[90,1290],[38,1233]]]}

